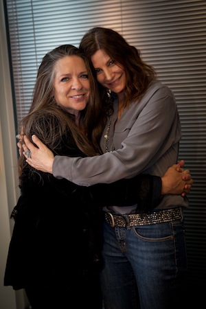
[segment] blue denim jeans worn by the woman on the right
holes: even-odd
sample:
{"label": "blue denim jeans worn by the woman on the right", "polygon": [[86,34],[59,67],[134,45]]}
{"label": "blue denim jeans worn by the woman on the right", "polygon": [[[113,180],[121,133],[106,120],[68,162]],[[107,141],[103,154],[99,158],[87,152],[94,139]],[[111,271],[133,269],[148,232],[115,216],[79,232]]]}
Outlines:
{"label": "blue denim jeans worn by the woman on the right", "polygon": [[131,229],[104,222],[102,255],[105,309],[183,308],[183,219]]}

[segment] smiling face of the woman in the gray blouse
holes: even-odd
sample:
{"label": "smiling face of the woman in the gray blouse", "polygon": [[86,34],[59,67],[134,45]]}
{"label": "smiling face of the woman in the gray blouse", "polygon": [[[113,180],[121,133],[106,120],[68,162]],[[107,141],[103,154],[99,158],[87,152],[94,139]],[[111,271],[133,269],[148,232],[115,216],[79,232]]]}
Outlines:
{"label": "smiling face of the woman in the gray blouse", "polygon": [[124,69],[119,67],[115,60],[111,59],[103,49],[99,49],[91,56],[93,67],[97,72],[98,82],[102,86],[120,95],[126,86]]}

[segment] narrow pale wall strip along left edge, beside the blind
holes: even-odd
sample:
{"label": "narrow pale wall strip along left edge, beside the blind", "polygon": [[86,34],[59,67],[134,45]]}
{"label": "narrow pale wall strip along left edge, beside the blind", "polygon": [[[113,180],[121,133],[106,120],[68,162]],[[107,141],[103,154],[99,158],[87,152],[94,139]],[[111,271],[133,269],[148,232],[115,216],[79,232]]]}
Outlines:
{"label": "narrow pale wall strip along left edge, beside the blind", "polygon": [[3,286],[5,262],[13,228],[10,212],[16,205],[20,193],[16,172],[16,133],[3,0],[0,0],[0,93],[0,308],[23,309],[23,290],[16,293],[12,287]]}

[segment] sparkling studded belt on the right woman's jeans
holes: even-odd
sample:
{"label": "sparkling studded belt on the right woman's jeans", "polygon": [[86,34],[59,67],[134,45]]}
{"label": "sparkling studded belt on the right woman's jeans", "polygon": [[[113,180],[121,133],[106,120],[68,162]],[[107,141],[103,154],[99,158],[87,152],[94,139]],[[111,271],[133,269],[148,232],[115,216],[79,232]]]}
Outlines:
{"label": "sparkling studded belt on the right woman's jeans", "polygon": [[163,209],[143,214],[112,214],[105,212],[106,222],[111,227],[134,227],[137,225],[155,225],[157,223],[181,220],[181,208]]}

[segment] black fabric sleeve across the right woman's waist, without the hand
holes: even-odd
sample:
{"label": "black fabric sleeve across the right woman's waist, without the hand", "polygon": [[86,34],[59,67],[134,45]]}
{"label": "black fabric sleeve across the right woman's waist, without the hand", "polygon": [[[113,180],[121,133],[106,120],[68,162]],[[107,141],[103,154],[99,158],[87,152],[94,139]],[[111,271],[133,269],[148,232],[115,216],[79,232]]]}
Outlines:
{"label": "black fabric sleeve across the right woman's waist, without the hand", "polygon": [[137,203],[137,209],[150,211],[161,201],[161,177],[139,174],[132,179],[121,179],[115,183],[92,185],[84,193],[85,200],[91,198],[100,207],[125,207]]}

